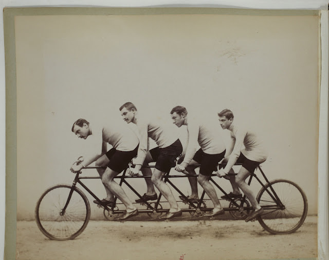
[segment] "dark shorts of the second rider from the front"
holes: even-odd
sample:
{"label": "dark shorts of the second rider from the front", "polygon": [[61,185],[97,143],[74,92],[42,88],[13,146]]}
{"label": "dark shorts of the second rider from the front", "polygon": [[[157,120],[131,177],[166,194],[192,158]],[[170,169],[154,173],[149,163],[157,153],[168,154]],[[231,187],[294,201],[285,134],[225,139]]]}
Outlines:
{"label": "dark shorts of the second rider from the front", "polygon": [[179,139],[177,139],[170,146],[159,149],[160,153],[156,160],[155,168],[159,171],[169,172],[170,169],[175,166],[175,160],[183,151],[183,147]]}

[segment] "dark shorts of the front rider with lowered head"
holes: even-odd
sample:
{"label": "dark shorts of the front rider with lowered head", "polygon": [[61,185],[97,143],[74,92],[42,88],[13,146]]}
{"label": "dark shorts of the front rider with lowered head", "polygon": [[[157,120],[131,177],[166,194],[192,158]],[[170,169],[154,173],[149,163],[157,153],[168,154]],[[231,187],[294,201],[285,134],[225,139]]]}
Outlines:
{"label": "dark shorts of the front rider with lowered head", "polygon": [[129,162],[136,157],[138,151],[138,145],[137,147],[132,151],[118,151],[115,148],[112,148],[108,152],[106,152],[106,157],[109,160],[109,163],[107,164],[107,167],[111,170],[114,170],[118,172],[118,174],[123,171]]}

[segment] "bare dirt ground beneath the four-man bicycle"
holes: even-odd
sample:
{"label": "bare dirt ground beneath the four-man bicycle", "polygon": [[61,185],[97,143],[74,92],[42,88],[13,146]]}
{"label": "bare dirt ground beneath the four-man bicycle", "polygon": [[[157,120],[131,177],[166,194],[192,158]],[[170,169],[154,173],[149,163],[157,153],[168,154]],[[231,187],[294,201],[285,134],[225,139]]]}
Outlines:
{"label": "bare dirt ground beneath the four-man bicycle", "polygon": [[90,221],[74,240],[45,237],[17,222],[17,260],[211,260],[317,257],[317,217],[293,234],[271,235],[243,220]]}

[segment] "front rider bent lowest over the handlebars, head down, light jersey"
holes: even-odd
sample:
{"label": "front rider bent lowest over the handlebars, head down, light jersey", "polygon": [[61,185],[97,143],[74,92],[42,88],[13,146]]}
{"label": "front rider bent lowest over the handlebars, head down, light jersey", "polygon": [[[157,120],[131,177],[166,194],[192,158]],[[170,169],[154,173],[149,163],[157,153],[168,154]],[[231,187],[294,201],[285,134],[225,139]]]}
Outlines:
{"label": "front rider bent lowest over the handlebars, head down, light jersey", "polygon": [[[106,165],[105,170],[99,169],[107,193],[106,199],[111,201],[114,194],[125,205],[126,212],[119,217],[120,220],[137,215],[137,208],[128,199],[122,187],[113,180],[137,154],[139,140],[135,132],[125,124],[121,124],[121,122],[118,122],[118,124],[112,122],[111,124],[92,125],[82,118],[73,124],[72,132],[83,139],[92,135],[95,146],[88,147],[88,156],[84,158],[81,164],[72,165],[71,171],[80,171],[95,161],[96,165]],[[113,148],[106,152],[107,144],[112,145]],[[95,149],[90,151],[90,148]]]}

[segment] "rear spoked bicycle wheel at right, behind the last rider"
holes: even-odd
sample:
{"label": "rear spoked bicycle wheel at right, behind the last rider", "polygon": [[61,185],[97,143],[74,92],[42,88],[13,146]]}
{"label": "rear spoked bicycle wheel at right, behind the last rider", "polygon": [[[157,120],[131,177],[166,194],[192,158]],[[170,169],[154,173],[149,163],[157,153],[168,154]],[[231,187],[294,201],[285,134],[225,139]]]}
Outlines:
{"label": "rear spoked bicycle wheel at right, behind the last rider", "polygon": [[[272,192],[270,186],[275,193]],[[282,202],[277,201],[276,196]],[[293,233],[302,226],[307,214],[307,198],[294,182],[274,180],[263,187],[257,201],[264,209],[258,217],[261,226],[272,234]]]}

